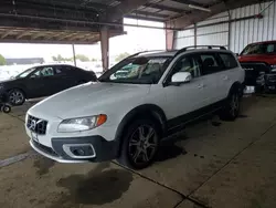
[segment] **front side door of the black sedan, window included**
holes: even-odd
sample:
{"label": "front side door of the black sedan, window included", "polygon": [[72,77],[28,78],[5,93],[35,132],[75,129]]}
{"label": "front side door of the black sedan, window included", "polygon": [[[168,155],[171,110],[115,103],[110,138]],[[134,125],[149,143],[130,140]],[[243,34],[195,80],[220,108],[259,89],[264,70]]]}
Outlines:
{"label": "front side door of the black sedan, window included", "polygon": [[26,82],[29,97],[35,98],[53,94],[53,66],[40,66],[32,74],[30,74],[29,80]]}

